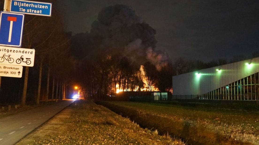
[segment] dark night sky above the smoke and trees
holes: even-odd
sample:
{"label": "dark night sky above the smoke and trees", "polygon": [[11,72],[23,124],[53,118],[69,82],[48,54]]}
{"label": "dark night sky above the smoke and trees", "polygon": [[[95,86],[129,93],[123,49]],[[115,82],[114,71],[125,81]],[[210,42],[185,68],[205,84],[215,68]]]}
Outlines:
{"label": "dark night sky above the smoke and trees", "polygon": [[211,61],[250,56],[259,51],[259,1],[238,0],[59,0],[67,30],[87,32],[99,11],[115,4],[131,6],[156,29],[156,50]]}

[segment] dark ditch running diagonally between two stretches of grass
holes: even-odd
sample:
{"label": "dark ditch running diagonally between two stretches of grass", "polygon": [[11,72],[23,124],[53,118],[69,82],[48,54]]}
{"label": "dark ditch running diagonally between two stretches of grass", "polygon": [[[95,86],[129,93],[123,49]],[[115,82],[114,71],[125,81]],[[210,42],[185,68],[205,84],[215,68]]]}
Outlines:
{"label": "dark ditch running diagonally between two stretches of grass", "polygon": [[169,134],[172,137],[177,137],[192,145],[252,145],[252,143],[236,141],[227,138],[226,136],[213,132],[201,125],[193,125],[184,120],[173,120],[162,115],[155,115],[138,110],[132,107],[118,106],[109,102],[99,101],[99,105],[109,108],[123,117],[129,117],[132,121],[138,123],[142,128],[150,130],[156,129],[160,135]]}

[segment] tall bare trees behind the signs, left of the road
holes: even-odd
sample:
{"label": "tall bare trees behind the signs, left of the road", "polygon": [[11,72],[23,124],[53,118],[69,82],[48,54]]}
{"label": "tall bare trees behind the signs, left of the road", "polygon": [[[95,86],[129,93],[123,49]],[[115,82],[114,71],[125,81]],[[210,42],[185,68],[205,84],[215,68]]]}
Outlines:
{"label": "tall bare trees behind the signs, left of the road", "polygon": [[[65,31],[57,2],[42,1],[53,3],[52,17],[26,14],[24,22],[22,48],[35,49],[34,67],[23,67],[22,78],[1,77],[1,104],[39,104],[65,95],[74,68],[69,54],[71,33]],[[1,0],[1,10],[3,4]]]}

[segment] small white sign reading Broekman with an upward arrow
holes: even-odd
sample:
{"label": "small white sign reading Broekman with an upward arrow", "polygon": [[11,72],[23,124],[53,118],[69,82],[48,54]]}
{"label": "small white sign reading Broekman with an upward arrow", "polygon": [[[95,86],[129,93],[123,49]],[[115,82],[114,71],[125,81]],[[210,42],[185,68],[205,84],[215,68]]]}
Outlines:
{"label": "small white sign reading Broekman with an upward arrow", "polygon": [[23,75],[22,66],[11,66],[11,65],[0,64],[0,76],[21,78],[22,75]]}

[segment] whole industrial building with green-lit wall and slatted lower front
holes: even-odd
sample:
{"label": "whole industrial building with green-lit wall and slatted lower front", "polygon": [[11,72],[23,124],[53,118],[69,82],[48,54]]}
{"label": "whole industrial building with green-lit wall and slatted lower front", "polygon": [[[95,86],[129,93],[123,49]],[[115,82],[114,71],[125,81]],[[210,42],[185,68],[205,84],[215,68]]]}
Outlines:
{"label": "whole industrial building with green-lit wall and slatted lower front", "polygon": [[176,99],[258,100],[259,58],[173,76]]}

